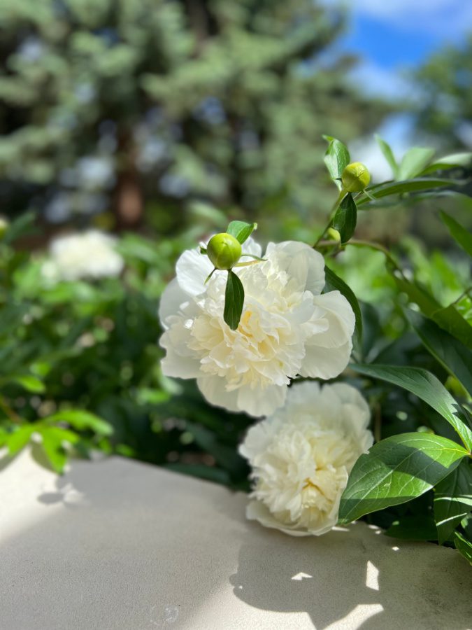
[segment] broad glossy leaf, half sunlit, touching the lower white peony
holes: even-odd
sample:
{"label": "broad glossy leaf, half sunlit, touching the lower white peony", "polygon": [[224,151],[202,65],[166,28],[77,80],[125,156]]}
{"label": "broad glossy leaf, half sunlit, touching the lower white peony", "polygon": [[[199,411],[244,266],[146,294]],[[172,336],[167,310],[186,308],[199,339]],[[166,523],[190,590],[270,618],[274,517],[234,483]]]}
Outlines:
{"label": "broad glossy leaf, half sunlit, touching the lower white peony", "polygon": [[352,468],[339,522],[350,523],[431,490],[468,455],[452,440],[429,433],[392,435],[374,444]]}

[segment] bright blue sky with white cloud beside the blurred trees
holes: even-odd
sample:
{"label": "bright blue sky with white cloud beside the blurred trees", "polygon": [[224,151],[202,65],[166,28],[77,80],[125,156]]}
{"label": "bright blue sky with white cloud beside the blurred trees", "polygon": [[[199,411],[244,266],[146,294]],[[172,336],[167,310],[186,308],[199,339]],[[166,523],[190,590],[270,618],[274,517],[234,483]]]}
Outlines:
{"label": "bright blue sky with white cloud beside the blurred trees", "polygon": [[[343,0],[322,1],[328,6],[343,6]],[[352,79],[380,97],[404,99],[414,95],[409,71],[445,46],[460,45],[472,32],[472,0],[351,0],[344,4],[348,29],[337,50],[359,57]],[[392,144],[397,157],[411,144],[408,115],[390,118],[378,131]],[[373,139],[363,139],[352,149],[376,179],[389,176]]]}

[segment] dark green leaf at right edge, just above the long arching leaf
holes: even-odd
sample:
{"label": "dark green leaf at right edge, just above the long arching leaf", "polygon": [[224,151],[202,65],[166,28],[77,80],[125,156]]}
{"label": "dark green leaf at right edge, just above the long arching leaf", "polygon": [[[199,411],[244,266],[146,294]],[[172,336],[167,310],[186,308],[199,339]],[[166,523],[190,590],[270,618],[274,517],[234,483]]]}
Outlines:
{"label": "dark green leaf at right edge, just above the long arching leaf", "polygon": [[409,309],[405,314],[427,350],[472,396],[472,352],[434,321]]}

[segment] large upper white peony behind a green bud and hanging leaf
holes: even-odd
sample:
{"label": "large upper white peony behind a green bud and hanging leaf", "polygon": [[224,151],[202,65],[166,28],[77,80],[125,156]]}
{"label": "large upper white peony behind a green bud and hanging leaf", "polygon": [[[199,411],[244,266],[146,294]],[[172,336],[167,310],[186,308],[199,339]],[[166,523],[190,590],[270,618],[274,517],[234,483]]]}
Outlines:
{"label": "large upper white peony behind a green bud and hanging leaf", "polygon": [[[262,255],[252,239],[244,253]],[[290,379],[331,379],[344,370],[352,349],[355,316],[338,291],[320,295],[324,260],[294,241],[269,244],[264,262],[235,267],[245,300],[241,322],[224,322],[225,272],[198,249],[177,262],[159,316],[165,329],[164,374],[197,379],[208,402],[251,416],[271,414],[285,402]]]}

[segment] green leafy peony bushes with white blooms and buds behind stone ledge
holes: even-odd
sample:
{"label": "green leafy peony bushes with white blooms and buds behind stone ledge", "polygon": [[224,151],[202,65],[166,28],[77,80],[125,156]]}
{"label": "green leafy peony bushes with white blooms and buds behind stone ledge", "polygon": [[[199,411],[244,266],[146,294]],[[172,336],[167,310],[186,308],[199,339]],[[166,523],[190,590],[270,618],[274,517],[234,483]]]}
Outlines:
{"label": "green leafy peony bushes with white blooms and buds behind stone ledge", "polygon": [[[92,232],[31,254],[30,218],[1,223],[6,457],[114,452],[250,489],[248,517],[290,535],[362,518],[470,559],[471,156],[396,162],[379,139],[394,179],[371,183],[325,139],[335,201],[310,242],[263,249],[222,216],[200,246]],[[432,209],[455,260],[357,238],[387,207]]]}

